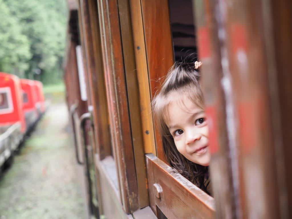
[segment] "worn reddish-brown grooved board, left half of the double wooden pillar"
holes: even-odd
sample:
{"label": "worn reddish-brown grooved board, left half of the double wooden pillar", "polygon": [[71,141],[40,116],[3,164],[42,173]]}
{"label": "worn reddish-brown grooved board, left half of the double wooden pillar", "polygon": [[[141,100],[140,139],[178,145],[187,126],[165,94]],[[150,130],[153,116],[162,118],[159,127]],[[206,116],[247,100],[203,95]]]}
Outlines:
{"label": "worn reddish-brown grooved board, left half of the double wooden pillar", "polygon": [[[119,26],[117,1],[101,1],[104,34],[105,76],[110,112],[113,150],[119,172],[121,200],[124,211],[137,210],[138,187],[135,174],[133,143],[128,111],[126,79]],[[108,28],[110,27],[110,28]]]}

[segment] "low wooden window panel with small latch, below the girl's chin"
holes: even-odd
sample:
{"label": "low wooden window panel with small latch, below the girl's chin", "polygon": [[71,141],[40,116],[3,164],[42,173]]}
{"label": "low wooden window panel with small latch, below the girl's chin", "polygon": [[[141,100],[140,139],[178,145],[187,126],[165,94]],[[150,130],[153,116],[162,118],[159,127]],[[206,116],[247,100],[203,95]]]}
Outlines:
{"label": "low wooden window panel with small latch, below the girl's chin", "polygon": [[[168,219],[214,218],[214,199],[162,162],[153,154],[146,155],[150,207],[158,207]],[[162,188],[157,197],[154,183]]]}

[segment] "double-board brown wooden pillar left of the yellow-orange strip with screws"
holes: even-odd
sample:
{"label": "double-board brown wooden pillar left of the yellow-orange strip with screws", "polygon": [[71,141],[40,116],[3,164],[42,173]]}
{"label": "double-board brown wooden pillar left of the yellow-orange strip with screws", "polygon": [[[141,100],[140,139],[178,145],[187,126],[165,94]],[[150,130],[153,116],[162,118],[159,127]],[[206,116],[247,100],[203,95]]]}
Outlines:
{"label": "double-board brown wooden pillar left of the yellow-orange strip with screws", "polygon": [[123,209],[129,214],[149,205],[146,171],[143,168],[145,158],[139,121],[140,111],[138,107],[128,107],[129,102],[132,106],[139,106],[138,96],[134,93],[129,94],[130,91],[127,90],[138,89],[138,81],[133,72],[135,65],[129,58],[125,58],[126,56],[134,58],[131,40],[127,39],[130,35],[125,35],[131,24],[126,22],[128,19],[126,18],[120,25],[123,13],[126,17],[129,16],[129,7],[126,1],[99,0],[98,11],[117,180]]}

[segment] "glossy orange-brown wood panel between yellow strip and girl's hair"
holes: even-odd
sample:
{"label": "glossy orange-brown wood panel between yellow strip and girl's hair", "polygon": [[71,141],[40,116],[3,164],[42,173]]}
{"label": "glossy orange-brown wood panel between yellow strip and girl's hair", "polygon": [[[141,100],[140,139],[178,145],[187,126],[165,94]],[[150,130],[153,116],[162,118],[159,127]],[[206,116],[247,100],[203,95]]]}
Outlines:
{"label": "glossy orange-brown wood panel between yellow strip and girl's hair", "polygon": [[[174,62],[168,1],[142,0],[141,5],[150,91],[153,98]],[[157,128],[155,137],[157,156],[165,160]]]}

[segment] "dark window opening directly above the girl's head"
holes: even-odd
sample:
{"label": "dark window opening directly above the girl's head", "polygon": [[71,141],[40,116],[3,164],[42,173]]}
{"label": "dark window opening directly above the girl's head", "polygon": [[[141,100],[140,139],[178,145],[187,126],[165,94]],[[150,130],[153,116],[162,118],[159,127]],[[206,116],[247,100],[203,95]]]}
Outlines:
{"label": "dark window opening directly above the girl's head", "polygon": [[197,61],[192,0],[169,0],[169,10],[175,61]]}

